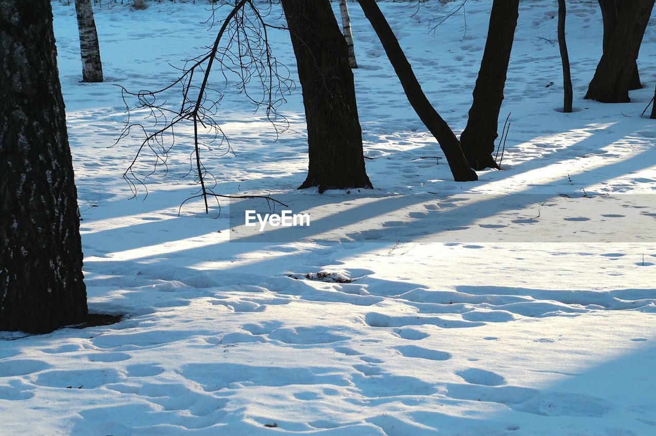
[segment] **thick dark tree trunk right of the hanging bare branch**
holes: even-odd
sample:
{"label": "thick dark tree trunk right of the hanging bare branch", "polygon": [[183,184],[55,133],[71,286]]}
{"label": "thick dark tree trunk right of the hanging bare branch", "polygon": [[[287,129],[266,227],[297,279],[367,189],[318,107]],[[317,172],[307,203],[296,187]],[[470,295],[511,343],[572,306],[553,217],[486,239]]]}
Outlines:
{"label": "thick dark tree trunk right of the hanging bare branch", "polygon": [[310,165],[298,189],[371,188],[348,48],[329,0],[282,0],[298,64]]}

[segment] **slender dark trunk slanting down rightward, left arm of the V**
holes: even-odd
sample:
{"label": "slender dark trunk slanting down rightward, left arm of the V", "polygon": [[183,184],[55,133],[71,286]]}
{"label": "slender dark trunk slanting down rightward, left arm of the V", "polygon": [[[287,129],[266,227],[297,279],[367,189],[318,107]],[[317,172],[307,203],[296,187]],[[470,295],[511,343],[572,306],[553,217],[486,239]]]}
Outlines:
{"label": "slender dark trunk slanting down rightward, left arm of the V", "polygon": [[412,105],[419,118],[422,120],[426,128],[430,130],[435,139],[440,143],[440,147],[444,152],[444,156],[449,162],[449,168],[453,173],[455,181],[472,181],[478,180],[476,172],[472,171],[467,163],[458,138],[455,137],[453,131],[447,123],[440,117],[440,114],[432,107],[428,98],[421,89],[417,77],[405,58],[405,54],[399,45],[398,39],[394,35],[392,28],[383,16],[382,12],[375,0],[358,0],[365,16],[371,23],[371,26],[376,31],[382,43],[383,48],[396,71],[396,75],[401,81],[405,96]]}

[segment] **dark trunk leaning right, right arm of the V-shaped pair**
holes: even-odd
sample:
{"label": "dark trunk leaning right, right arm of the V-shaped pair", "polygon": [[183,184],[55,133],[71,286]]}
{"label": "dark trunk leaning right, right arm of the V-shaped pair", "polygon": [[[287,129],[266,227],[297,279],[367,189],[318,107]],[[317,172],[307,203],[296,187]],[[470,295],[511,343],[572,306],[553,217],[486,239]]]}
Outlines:
{"label": "dark trunk leaning right, right arm of the V-shaped pair", "polygon": [[519,15],[519,0],[494,0],[487,41],[474,88],[474,103],[460,141],[467,160],[475,170],[499,168],[492,158],[497,139],[499,111],[506,86],[510,51]]}

